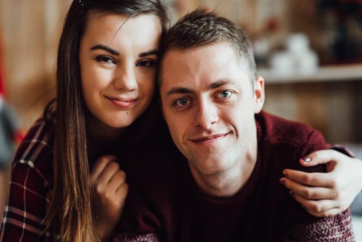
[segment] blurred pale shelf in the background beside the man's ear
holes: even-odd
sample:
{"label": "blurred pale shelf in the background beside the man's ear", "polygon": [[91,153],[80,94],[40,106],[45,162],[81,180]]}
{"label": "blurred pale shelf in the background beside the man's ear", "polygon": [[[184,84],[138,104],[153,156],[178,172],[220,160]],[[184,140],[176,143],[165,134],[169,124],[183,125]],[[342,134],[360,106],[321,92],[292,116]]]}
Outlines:
{"label": "blurred pale shelf in the background beside the man's ear", "polygon": [[361,81],[362,64],[321,66],[315,75],[276,75],[271,69],[260,68],[258,75],[265,79],[265,84],[293,84],[301,82],[343,82]]}

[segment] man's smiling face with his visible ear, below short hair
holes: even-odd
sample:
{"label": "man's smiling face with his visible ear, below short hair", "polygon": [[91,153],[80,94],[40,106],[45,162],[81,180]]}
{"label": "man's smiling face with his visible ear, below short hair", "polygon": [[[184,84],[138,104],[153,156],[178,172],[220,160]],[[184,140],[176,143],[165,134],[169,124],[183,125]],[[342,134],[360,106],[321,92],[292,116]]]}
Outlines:
{"label": "man's smiling face with his visible ear, below short hair", "polygon": [[227,43],[169,50],[162,61],[161,100],[173,142],[191,171],[211,175],[242,162],[263,107],[263,79],[250,84],[247,64]]}

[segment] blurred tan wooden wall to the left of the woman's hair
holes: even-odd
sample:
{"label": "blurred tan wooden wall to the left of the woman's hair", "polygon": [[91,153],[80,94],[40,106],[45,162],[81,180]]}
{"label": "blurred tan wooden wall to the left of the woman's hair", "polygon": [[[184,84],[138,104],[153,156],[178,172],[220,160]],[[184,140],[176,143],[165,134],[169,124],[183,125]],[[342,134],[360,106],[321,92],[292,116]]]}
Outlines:
{"label": "blurred tan wooden wall to the left of the woman's hair", "polygon": [[54,97],[55,56],[70,0],[0,0],[7,101],[27,129]]}

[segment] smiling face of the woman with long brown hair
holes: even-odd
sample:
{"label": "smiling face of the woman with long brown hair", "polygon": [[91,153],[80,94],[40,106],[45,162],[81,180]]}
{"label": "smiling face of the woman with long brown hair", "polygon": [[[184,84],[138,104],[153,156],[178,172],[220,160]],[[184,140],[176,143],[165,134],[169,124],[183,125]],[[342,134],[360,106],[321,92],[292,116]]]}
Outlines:
{"label": "smiling face of the woman with long brown hair", "polygon": [[155,15],[93,14],[80,42],[86,106],[109,127],[130,125],[149,106],[161,36]]}

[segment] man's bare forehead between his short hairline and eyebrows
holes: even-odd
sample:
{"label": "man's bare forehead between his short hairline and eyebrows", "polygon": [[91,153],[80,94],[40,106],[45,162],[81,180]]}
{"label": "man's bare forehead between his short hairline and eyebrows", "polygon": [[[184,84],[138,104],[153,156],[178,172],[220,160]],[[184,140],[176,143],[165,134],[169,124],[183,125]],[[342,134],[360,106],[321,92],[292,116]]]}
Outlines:
{"label": "man's bare forehead between his short hairline and eyebrows", "polygon": [[171,48],[162,59],[161,71],[161,81],[168,82],[167,86],[169,82],[175,86],[188,80],[204,79],[208,85],[220,80],[235,84],[238,77],[244,79],[242,76],[249,75],[248,65],[240,62],[229,44],[221,43],[187,50]]}

